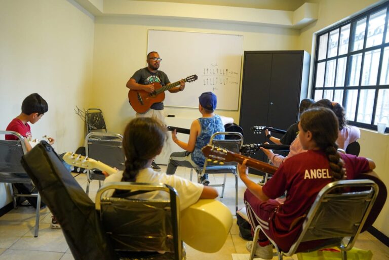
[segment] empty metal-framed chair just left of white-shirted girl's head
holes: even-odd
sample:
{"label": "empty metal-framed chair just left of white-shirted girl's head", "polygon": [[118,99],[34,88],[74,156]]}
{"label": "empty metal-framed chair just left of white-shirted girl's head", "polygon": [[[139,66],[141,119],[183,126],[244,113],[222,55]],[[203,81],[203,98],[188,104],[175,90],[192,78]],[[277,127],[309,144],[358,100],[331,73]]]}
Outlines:
{"label": "empty metal-framed chair just left of white-shirted girl's head", "polygon": [[[85,155],[123,170],[125,157],[122,141],[123,136],[119,134],[91,132],[85,138]],[[105,180],[105,176],[99,170],[88,169],[87,194],[89,194],[89,185],[92,180],[98,180],[99,187],[101,187],[101,181]]]}

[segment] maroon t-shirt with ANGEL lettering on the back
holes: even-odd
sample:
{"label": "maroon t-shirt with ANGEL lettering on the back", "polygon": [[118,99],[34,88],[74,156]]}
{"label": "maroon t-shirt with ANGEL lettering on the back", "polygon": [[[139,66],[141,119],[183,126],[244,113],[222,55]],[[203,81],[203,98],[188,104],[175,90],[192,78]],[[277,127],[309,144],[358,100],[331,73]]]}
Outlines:
{"label": "maroon t-shirt with ANGEL lettering on the back", "polygon": [[[369,162],[364,157],[341,154],[341,158],[345,162],[347,179],[354,179],[356,175],[369,170]],[[331,181],[328,159],[320,150],[308,150],[281,164],[262,189],[271,199],[276,199],[287,191],[284,204],[280,205],[275,214],[273,225],[270,224],[274,231],[279,234],[288,233],[292,222],[307,213],[317,194]]]}

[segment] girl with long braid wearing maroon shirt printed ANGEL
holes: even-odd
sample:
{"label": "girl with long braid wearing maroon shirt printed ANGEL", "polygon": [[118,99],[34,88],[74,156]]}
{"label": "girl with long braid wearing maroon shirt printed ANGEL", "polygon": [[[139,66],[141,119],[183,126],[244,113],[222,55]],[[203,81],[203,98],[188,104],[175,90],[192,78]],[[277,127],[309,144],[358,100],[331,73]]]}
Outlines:
{"label": "girl with long braid wearing maroon shirt printed ANGEL", "polygon": [[[338,119],[328,108],[305,111],[298,123],[299,138],[305,153],[286,160],[273,178],[262,187],[248,178],[246,160],[238,166],[247,186],[245,204],[252,228],[261,225],[255,254],[273,258],[273,248],[265,232],[283,250],[288,251],[301,231],[301,225],[320,190],[332,181],[354,179],[375,168],[372,160],[337,151]],[[275,199],[287,191],[284,203]],[[312,241],[310,242],[312,243]],[[246,245],[250,251],[252,242]]]}

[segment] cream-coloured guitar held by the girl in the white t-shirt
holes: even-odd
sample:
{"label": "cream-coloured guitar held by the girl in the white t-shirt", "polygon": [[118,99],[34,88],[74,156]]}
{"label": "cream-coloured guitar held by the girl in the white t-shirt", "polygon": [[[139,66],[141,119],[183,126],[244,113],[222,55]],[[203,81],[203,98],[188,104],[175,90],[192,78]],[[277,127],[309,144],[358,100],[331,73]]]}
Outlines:
{"label": "cream-coloured guitar held by the girl in the white t-shirt", "polygon": [[[86,169],[99,169],[114,174],[116,169],[79,154],[67,152],[63,160]],[[200,199],[181,211],[182,240],[196,250],[214,253],[220,250],[232,226],[232,214],[226,205],[214,199]]]}

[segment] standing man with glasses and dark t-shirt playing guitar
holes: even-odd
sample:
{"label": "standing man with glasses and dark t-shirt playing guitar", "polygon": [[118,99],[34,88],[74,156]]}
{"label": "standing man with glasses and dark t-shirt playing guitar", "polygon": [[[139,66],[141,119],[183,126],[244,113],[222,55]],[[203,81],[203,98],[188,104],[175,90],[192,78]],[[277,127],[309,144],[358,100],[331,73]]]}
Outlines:
{"label": "standing man with glasses and dark t-shirt playing guitar", "polygon": [[[167,85],[170,80],[165,72],[158,70],[162,59],[157,52],[150,52],[147,54],[147,67],[137,70],[134,75],[127,81],[127,88],[130,90],[143,90],[147,93],[154,92],[153,82],[159,82],[161,85]],[[177,93],[185,89],[185,82],[180,81],[180,85],[175,88],[169,89],[170,93]],[[136,117],[154,117],[158,118],[162,122],[165,122],[164,115],[164,103],[158,102],[151,105],[150,109],[145,113],[136,113]],[[161,168],[152,163],[154,170],[160,171]]]}

